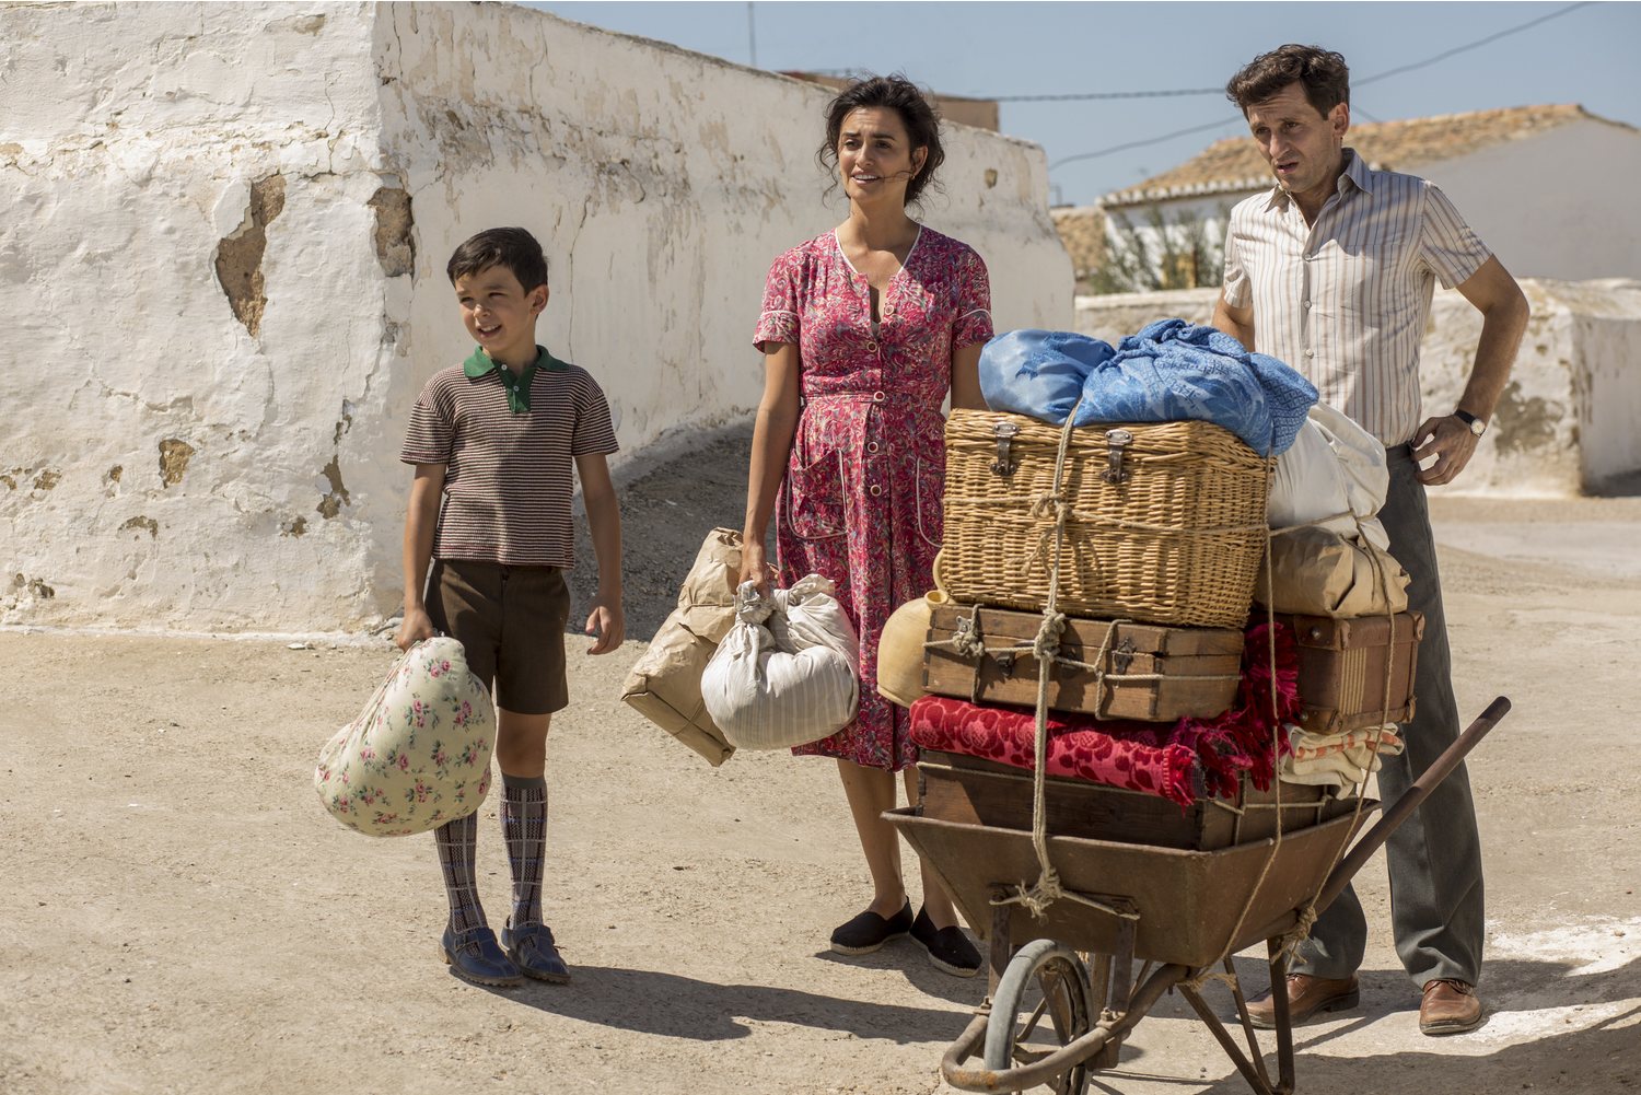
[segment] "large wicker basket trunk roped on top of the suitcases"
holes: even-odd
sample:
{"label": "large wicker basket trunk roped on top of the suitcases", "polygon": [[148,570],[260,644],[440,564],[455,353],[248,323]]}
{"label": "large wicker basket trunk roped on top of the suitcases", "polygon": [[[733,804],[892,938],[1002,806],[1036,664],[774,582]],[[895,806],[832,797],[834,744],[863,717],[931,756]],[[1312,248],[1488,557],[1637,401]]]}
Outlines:
{"label": "large wicker basket trunk roped on top of the suitcases", "polygon": [[962,602],[1042,609],[1063,507],[1058,611],[1242,627],[1273,461],[1208,422],[1103,424],[1072,430],[1057,493],[1062,432],[952,412],[940,586]]}

